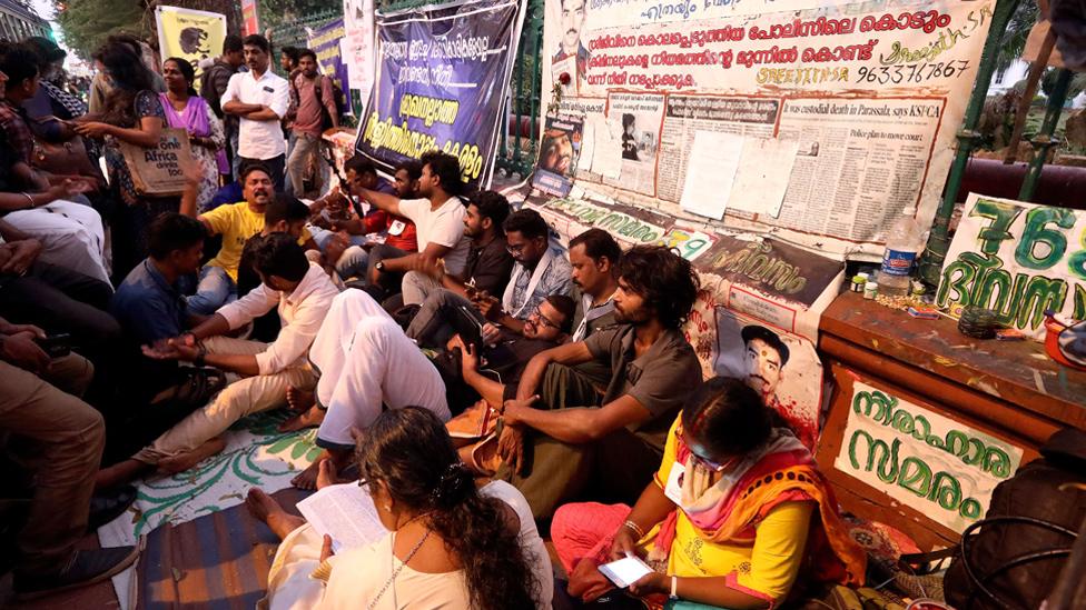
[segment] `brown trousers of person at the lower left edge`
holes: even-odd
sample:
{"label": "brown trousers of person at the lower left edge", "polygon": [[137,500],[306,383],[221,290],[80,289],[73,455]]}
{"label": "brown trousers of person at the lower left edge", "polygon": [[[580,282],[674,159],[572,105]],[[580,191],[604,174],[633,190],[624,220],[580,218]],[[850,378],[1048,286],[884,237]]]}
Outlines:
{"label": "brown trousers of person at the lower left edge", "polygon": [[34,472],[30,513],[18,539],[20,573],[60,570],[87,530],[106,427],[101,414],[72,393],[86,390],[93,371],[89,361],[71,354],[43,373],[49,383],[0,362],[0,430],[12,434],[13,452]]}

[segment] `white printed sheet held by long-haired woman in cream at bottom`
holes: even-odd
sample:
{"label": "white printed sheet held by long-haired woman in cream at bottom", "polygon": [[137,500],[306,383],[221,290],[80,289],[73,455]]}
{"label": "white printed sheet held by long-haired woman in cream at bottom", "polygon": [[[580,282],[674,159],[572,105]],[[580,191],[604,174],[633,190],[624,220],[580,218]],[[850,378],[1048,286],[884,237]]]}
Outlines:
{"label": "white printed sheet held by long-haired woman in cream at bottom", "polygon": [[298,502],[298,511],[317,533],[332,537],[336,552],[372,544],[388,533],[369,492],[357,482],[328,486]]}

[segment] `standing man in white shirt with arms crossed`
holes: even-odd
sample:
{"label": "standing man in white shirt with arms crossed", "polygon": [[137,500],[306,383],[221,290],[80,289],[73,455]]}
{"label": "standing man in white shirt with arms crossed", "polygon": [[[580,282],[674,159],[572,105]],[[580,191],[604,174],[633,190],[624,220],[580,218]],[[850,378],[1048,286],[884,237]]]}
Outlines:
{"label": "standing man in white shirt with arms crossed", "polygon": [[287,113],[290,87],[286,79],[268,69],[272,46],[266,38],[247,36],[243,49],[249,71],[230,77],[221,98],[223,112],[240,118],[238,157],[241,163],[264,163],[272,171],[276,192],[283,192],[287,142],[280,121]]}

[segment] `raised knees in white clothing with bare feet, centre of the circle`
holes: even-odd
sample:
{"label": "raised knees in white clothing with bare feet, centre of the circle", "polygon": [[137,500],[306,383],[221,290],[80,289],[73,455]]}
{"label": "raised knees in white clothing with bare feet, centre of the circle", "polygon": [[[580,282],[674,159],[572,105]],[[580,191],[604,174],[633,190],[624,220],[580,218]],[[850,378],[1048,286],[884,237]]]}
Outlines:
{"label": "raised knees in white clothing with bare feet, centre of the circle", "polygon": [[295,477],[295,487],[313,489],[324,459],[345,467],[355,447],[352,429],[365,432],[383,409],[422,407],[448,421],[445,384],[437,369],[363,290],[336,297],[309,360],[320,374],[316,402],[297,392],[294,400],[313,406],[303,419],[320,422],[317,444],[325,453]]}

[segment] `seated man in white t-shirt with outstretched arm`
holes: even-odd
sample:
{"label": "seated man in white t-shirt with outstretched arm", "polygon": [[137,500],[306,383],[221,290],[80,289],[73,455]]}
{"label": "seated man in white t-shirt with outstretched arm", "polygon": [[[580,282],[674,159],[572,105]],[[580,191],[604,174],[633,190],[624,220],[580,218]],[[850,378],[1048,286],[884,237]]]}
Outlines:
{"label": "seated man in white t-shirt with outstretched arm", "polygon": [[[431,269],[438,259],[444,260],[446,272],[460,274],[467,263],[471,239],[464,234],[466,208],[458,197],[464,190],[460,161],[437,150],[424,153],[419,161],[423,163],[417,190],[421,199],[399,199],[393,194],[358,189],[357,194],[366,201],[415,223],[418,252],[377,261],[374,268],[378,274]],[[398,292],[399,287],[396,288]]]}

